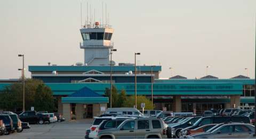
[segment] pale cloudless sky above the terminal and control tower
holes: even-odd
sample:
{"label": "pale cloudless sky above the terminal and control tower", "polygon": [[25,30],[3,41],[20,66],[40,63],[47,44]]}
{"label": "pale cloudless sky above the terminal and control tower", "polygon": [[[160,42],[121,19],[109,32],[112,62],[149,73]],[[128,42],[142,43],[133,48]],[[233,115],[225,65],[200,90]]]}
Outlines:
{"label": "pale cloudless sky above the terminal and control tower", "polygon": [[[112,42],[118,63],[161,65],[160,78],[188,79],[208,74],[228,79],[255,78],[255,0],[0,0],[0,79],[21,76],[25,55],[28,66],[84,63],[79,47],[87,17],[114,29]],[[107,16],[106,16],[107,4]],[[91,7],[91,10],[90,10]],[[90,12],[91,11],[91,12]],[[90,14],[91,13],[91,14]]]}

